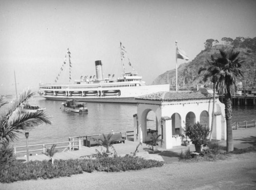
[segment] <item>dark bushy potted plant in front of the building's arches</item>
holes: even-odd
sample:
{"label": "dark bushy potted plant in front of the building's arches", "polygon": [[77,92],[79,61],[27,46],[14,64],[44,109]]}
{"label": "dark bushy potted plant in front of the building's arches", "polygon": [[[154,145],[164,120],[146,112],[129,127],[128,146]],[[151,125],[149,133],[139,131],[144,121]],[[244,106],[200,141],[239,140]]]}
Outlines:
{"label": "dark bushy potted plant in front of the building's arches", "polygon": [[202,145],[207,144],[209,141],[209,128],[207,126],[202,126],[199,122],[193,126],[187,124],[187,129],[185,133],[186,136],[190,138],[192,143],[195,145],[196,152],[201,153]]}

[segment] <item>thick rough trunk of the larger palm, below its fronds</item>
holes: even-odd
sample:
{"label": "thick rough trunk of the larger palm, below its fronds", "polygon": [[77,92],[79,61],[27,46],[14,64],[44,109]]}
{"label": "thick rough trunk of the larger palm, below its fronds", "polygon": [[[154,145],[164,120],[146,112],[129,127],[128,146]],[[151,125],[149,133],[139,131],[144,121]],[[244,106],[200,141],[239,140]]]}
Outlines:
{"label": "thick rough trunk of the larger palm, below its fronds", "polygon": [[225,95],[225,115],[226,115],[226,124],[227,124],[227,152],[231,152],[234,150],[233,147],[233,134],[232,134],[232,125],[231,125],[231,117],[232,117],[232,100],[231,95]]}

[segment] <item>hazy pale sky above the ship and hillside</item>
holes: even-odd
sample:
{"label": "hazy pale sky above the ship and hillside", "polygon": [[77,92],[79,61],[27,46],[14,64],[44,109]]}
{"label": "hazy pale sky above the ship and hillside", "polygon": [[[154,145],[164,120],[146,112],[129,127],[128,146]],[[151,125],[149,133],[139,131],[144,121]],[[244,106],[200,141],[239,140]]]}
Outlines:
{"label": "hazy pale sky above the ship and hillside", "polygon": [[[256,37],[255,10],[254,0],[1,0],[0,94],[15,94],[14,70],[18,93],[55,83],[58,74],[57,83],[93,76],[96,60],[104,77],[119,77],[120,42],[149,85],[175,68],[176,40],[191,61],[206,39]],[[72,68],[62,66],[68,48]]]}

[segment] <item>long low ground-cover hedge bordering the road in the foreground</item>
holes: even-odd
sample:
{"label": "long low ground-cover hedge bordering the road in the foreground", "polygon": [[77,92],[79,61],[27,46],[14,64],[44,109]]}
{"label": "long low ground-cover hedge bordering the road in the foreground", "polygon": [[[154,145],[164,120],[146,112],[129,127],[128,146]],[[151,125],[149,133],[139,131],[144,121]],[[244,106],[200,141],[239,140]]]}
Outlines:
{"label": "long low ground-cover hedge bordering the road in the foreground", "polygon": [[97,159],[69,159],[55,160],[54,164],[45,161],[29,161],[1,164],[0,182],[10,183],[29,179],[48,179],[71,176],[82,172],[105,171],[118,172],[127,170],[140,170],[152,167],[161,167],[163,162],[145,160],[133,156],[100,157]]}

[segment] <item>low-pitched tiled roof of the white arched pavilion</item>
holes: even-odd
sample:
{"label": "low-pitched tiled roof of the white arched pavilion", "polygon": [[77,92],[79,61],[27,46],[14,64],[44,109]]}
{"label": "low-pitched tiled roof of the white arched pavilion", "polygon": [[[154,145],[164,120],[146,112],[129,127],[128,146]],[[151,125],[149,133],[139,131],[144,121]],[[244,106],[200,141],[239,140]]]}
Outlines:
{"label": "low-pitched tiled roof of the white arched pavilion", "polygon": [[189,91],[189,92],[163,91],[163,92],[156,92],[156,93],[151,93],[144,96],[136,97],[135,99],[172,102],[172,101],[182,101],[182,100],[212,99],[212,95],[209,93],[201,93],[198,91]]}

